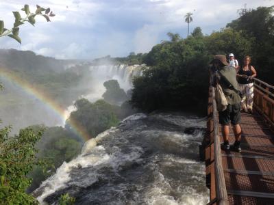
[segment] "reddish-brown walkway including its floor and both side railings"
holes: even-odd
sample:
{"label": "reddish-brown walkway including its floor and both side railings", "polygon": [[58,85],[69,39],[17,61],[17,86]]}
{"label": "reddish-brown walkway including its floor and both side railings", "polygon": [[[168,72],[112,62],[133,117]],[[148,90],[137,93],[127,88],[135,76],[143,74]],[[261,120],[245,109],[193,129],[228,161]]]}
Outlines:
{"label": "reddish-brown walkway including its floor and both side railings", "polygon": [[[221,150],[223,142],[214,88],[208,98],[208,134],[203,140],[208,204],[274,204],[274,87],[255,79],[252,115],[242,113],[242,152]],[[229,143],[234,143],[230,128]]]}

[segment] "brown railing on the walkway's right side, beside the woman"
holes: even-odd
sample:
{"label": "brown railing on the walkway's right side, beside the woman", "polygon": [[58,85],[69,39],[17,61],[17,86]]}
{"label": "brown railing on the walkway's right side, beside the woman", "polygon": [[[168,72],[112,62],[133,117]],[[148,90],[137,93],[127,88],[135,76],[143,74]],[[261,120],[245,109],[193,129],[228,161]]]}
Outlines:
{"label": "brown railing on the walkway's right side, beside the woman", "polygon": [[254,78],[253,106],[264,116],[274,131],[274,86]]}

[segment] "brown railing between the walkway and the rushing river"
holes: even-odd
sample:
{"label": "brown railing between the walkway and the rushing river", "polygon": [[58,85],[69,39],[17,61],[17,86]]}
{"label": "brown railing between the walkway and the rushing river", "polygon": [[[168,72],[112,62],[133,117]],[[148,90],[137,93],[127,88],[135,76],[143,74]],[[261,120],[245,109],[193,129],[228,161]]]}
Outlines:
{"label": "brown railing between the walkway and the rushing river", "polygon": [[[208,147],[206,148],[206,172],[210,184],[210,202],[208,204],[227,205],[227,190],[221,156],[219,120],[216,109],[214,87],[210,86],[208,98]],[[210,182],[209,182],[210,180]]]}

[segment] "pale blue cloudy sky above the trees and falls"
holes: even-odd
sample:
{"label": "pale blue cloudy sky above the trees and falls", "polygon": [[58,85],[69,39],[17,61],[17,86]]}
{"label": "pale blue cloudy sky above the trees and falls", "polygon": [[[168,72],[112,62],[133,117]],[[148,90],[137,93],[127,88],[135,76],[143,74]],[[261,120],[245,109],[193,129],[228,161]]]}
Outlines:
{"label": "pale blue cloudy sky above the trees and falls", "polygon": [[[274,5],[274,0],[0,0],[0,20],[5,27],[14,23],[12,11],[29,4],[51,8],[56,14],[47,23],[38,16],[36,25],[21,25],[22,44],[9,37],[0,38],[0,49],[34,51],[57,59],[94,59],[111,55],[123,57],[130,52],[147,53],[166,33],[179,33],[186,38],[191,12],[190,33],[201,27],[204,34],[219,31],[238,18],[245,6]],[[25,16],[21,11],[21,16]]]}

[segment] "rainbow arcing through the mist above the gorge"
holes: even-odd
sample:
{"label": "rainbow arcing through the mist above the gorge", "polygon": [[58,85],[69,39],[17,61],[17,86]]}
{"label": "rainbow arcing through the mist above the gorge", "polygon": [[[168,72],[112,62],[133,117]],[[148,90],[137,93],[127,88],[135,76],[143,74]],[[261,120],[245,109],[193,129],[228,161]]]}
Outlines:
{"label": "rainbow arcing through the mist above the gorge", "polygon": [[[11,83],[15,83],[21,89],[28,95],[33,96],[40,100],[42,102],[42,105],[45,105],[49,110],[53,111],[56,115],[59,116],[60,119],[62,119],[63,122],[65,122],[66,118],[68,117],[66,115],[65,110],[58,105],[48,94],[45,94],[45,92],[42,92],[38,89],[35,85],[25,81],[21,77],[18,77],[14,72],[11,70],[8,70],[6,68],[0,68],[0,77],[3,77],[3,79],[10,81]],[[73,131],[79,135],[84,141],[87,141],[88,139],[92,138],[86,131],[86,129],[76,122],[76,120],[69,120],[69,125],[71,128],[73,128]]]}

